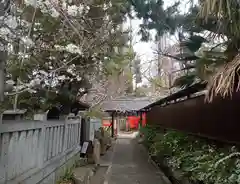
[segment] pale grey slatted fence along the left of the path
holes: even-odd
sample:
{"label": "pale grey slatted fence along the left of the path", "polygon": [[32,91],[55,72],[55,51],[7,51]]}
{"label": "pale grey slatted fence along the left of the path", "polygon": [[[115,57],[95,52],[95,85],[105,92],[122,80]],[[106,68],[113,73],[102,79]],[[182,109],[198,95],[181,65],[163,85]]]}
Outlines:
{"label": "pale grey slatted fence along the left of the path", "polygon": [[81,118],[0,124],[0,183],[38,183],[80,151]]}

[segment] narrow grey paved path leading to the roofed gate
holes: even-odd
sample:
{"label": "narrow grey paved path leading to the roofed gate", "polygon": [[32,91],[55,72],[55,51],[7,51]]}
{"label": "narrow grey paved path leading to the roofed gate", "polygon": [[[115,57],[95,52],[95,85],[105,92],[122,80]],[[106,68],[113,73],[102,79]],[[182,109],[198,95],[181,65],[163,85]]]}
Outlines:
{"label": "narrow grey paved path leading to the roofed gate", "polygon": [[148,162],[136,134],[121,134],[113,151],[108,184],[169,184],[161,171]]}

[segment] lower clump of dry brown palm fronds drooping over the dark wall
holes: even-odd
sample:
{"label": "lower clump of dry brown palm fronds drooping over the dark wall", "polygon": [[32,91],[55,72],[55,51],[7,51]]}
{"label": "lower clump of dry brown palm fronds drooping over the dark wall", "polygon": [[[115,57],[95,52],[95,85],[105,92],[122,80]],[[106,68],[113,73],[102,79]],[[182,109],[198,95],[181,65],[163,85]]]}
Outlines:
{"label": "lower clump of dry brown palm fronds drooping over the dark wall", "polygon": [[[208,83],[206,101],[211,102],[215,96],[232,97],[240,89],[240,54],[232,62],[222,66]],[[237,82],[237,84],[236,84]]]}

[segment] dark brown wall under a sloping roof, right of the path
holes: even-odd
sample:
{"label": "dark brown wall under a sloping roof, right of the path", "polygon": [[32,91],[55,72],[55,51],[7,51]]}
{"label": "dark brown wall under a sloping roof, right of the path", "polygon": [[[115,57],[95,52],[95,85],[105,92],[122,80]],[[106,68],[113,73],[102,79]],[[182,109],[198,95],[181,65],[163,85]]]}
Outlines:
{"label": "dark brown wall under a sloping roof, right of the path", "polygon": [[153,106],[147,112],[148,124],[190,134],[240,144],[240,93],[232,98],[216,98],[204,102],[204,95],[172,103]]}

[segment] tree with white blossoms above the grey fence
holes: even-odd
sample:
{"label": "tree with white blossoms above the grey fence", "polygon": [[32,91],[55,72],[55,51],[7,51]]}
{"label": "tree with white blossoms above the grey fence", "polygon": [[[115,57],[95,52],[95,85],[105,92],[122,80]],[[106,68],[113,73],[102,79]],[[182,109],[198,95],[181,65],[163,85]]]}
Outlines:
{"label": "tree with white blossoms above the grey fence", "polygon": [[32,99],[42,108],[62,95],[68,102],[92,89],[92,78],[108,75],[113,62],[120,67],[111,72],[121,70],[124,0],[2,0],[0,8],[0,99],[7,106]]}

